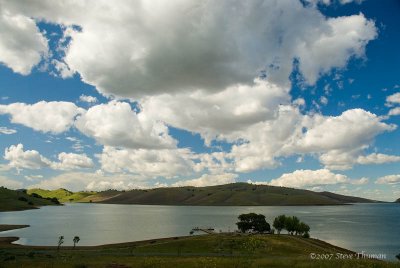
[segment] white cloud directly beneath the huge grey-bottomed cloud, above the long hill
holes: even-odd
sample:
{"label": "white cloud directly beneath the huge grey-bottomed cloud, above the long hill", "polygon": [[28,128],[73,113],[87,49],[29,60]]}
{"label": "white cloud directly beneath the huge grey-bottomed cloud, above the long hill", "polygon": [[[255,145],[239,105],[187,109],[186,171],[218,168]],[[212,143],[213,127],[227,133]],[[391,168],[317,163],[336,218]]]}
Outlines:
{"label": "white cloud directly beneath the huge grey-bottomed cloud, above the long hill", "polygon": [[257,79],[254,86],[235,85],[214,94],[163,94],[145,98],[141,104],[148,118],[200,133],[209,144],[217,137],[274,119],[279,105],[289,103],[288,92],[289,88]]}

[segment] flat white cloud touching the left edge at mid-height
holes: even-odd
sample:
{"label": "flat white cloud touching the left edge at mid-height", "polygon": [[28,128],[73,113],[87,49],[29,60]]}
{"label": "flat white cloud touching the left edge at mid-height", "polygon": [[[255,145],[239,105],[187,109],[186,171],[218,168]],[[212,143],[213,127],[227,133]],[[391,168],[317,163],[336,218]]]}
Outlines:
{"label": "flat white cloud touching the left edge at mid-height", "polygon": [[9,114],[11,122],[37,131],[59,134],[68,130],[75,117],[84,110],[71,102],[40,101],[35,104],[0,105],[0,114]]}

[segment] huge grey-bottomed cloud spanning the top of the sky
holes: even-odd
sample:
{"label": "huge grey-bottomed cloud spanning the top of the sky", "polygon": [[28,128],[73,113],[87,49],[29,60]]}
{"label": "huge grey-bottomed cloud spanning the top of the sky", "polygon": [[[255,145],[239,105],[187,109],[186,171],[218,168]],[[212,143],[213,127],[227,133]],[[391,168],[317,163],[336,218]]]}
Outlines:
{"label": "huge grey-bottomed cloud spanning the top of the sky", "polygon": [[9,1],[12,14],[66,26],[64,61],[108,95],[138,98],[252,84],[264,70],[306,81],[362,57],[377,35],[363,14],[326,18],[301,1]]}

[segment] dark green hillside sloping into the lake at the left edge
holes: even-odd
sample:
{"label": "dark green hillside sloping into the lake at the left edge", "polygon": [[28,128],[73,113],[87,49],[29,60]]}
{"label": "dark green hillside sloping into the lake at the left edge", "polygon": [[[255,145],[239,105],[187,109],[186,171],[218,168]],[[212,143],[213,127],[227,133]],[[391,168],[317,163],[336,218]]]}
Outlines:
{"label": "dark green hillside sloping into the lake at the left edge", "polygon": [[39,206],[57,205],[57,201],[31,196],[25,190],[0,187],[0,211],[33,209]]}

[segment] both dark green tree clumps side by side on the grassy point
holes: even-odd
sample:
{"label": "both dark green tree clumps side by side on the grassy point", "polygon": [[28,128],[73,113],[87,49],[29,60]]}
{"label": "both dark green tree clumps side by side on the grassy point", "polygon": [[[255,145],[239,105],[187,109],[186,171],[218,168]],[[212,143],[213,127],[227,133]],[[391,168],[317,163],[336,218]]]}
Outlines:
{"label": "both dark green tree clumps side by side on the grassy point", "polygon": [[[248,213],[239,215],[239,221],[236,223],[238,229],[242,233],[270,233],[271,226],[265,220],[262,214]],[[310,226],[300,221],[296,216],[280,215],[274,219],[273,227],[281,233],[285,229],[291,235],[302,235],[303,237],[310,237]]]}

